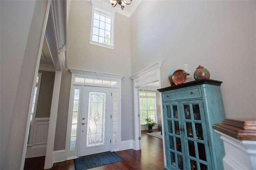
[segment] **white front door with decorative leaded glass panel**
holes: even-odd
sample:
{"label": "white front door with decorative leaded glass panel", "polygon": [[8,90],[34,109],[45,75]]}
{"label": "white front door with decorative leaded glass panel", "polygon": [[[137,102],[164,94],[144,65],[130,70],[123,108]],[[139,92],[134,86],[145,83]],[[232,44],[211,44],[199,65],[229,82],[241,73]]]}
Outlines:
{"label": "white front door with decorative leaded glass panel", "polygon": [[83,86],[79,156],[110,151],[111,88]]}

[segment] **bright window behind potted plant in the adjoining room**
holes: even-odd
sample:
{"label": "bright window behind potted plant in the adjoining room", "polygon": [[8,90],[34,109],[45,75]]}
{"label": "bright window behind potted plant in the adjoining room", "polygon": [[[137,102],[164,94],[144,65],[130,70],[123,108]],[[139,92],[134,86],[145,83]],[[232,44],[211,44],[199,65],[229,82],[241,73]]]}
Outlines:
{"label": "bright window behind potted plant in the adjoining room", "polygon": [[156,120],[156,92],[142,91],[139,93],[140,102],[140,125],[146,125],[145,118]]}

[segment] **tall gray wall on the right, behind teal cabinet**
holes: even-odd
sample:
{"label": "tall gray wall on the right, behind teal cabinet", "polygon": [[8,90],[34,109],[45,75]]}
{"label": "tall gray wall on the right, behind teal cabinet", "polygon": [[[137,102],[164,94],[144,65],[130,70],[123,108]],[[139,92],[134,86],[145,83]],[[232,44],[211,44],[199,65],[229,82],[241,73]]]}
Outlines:
{"label": "tall gray wall on the right, behind teal cabinet", "polygon": [[160,61],[167,87],[171,69],[203,65],[223,81],[226,117],[256,117],[255,9],[255,1],[142,1],[130,18],[132,74]]}

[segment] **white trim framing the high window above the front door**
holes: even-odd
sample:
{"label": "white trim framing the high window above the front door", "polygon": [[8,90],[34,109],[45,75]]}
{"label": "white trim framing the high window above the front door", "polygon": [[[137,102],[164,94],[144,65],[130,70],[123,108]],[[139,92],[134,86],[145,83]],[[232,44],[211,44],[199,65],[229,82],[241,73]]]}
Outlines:
{"label": "white trim framing the high window above the front door", "polygon": [[[92,19],[91,19],[91,32],[90,32],[90,41],[89,42],[91,45],[97,45],[97,46],[108,48],[108,49],[114,49],[114,23],[115,23],[114,16],[115,16],[116,10],[111,9],[111,8],[104,8],[104,9],[102,9],[102,8],[103,7],[100,6],[100,4],[98,4],[95,1],[92,1]],[[105,15],[111,17],[111,31],[110,31],[110,44],[111,45],[92,41],[94,12],[99,12],[101,14],[105,14]]]}

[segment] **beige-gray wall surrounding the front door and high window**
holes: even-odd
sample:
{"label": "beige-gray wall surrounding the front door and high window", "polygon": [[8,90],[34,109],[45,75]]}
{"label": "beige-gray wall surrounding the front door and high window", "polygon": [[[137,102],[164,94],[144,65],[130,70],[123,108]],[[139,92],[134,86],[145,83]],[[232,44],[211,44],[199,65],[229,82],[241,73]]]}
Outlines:
{"label": "beige-gray wall surrounding the front door and high window", "polygon": [[[130,66],[130,19],[115,14],[114,50],[90,45],[92,4],[88,1],[72,1],[67,30],[68,68],[124,75],[122,79],[122,136],[133,138],[132,87]],[[65,148],[68,102],[71,74],[62,74],[68,85],[61,85],[54,150]],[[60,109],[60,106],[62,109]]]}

